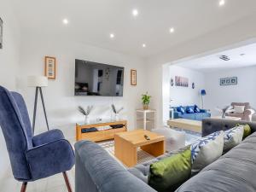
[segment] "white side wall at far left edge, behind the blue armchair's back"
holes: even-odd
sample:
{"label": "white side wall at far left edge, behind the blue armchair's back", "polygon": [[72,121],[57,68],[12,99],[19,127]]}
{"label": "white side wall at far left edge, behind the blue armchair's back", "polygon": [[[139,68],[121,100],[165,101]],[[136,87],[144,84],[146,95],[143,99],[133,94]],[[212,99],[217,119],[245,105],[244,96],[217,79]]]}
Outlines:
{"label": "white side wall at far left edge, behind the blue armchair's back", "polygon": [[[0,85],[15,90],[15,74],[19,65],[20,28],[8,1],[1,1],[0,17],[3,20],[3,49],[0,49]],[[9,167],[3,132],[0,131],[0,182]]]}

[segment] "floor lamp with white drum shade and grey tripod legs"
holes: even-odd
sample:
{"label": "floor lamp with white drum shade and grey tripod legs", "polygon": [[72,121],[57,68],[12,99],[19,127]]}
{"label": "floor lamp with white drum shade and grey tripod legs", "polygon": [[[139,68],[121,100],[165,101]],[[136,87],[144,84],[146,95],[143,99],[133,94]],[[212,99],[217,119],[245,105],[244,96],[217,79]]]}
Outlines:
{"label": "floor lamp with white drum shade and grey tripod legs", "polygon": [[35,102],[34,102],[34,113],[33,113],[33,121],[32,121],[32,129],[33,132],[35,131],[35,124],[36,124],[36,117],[37,117],[37,107],[38,107],[38,91],[41,96],[41,101],[43,104],[43,109],[44,109],[44,118],[46,121],[47,129],[49,131],[49,125],[48,125],[48,119],[45,111],[45,106],[44,106],[44,96],[43,96],[43,91],[42,87],[47,87],[48,86],[48,78],[44,76],[30,76],[27,78],[27,85],[29,87],[35,87],[36,88],[36,94],[35,94]]}

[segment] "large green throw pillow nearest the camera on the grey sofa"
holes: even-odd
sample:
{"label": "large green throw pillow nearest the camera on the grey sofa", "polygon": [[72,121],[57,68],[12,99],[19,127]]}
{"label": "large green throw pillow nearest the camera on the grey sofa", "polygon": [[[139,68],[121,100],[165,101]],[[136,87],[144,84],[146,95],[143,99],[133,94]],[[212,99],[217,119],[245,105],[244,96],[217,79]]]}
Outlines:
{"label": "large green throw pillow nearest the camera on the grey sofa", "polygon": [[148,184],[159,192],[174,191],[191,175],[191,151],[185,149],[179,154],[150,165]]}

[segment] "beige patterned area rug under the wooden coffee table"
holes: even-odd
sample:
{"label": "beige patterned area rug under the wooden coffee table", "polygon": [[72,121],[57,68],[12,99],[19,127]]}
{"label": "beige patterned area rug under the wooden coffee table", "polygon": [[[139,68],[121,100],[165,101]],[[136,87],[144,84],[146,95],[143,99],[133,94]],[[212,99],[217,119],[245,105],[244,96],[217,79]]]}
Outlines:
{"label": "beige patterned area rug under the wooden coffee table", "polygon": [[[99,144],[102,148],[107,150],[108,154],[113,156],[113,158],[115,160],[119,161],[114,156],[114,141],[101,142],[101,143],[97,143],[97,144]],[[140,149],[140,148],[137,149],[137,164],[141,164],[141,163],[147,162],[148,160],[153,160],[154,158],[155,158],[154,156],[152,156],[151,154],[148,154],[147,152],[143,151],[142,149]],[[121,161],[119,161],[119,163],[122,166],[125,166]]]}

